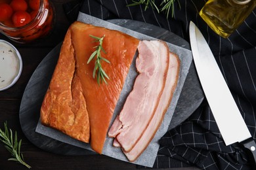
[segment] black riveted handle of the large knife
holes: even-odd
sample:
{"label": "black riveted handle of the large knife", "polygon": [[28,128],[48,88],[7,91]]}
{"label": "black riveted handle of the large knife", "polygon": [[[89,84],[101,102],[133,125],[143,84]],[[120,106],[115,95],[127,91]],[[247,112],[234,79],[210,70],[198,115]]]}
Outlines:
{"label": "black riveted handle of the large knife", "polygon": [[251,161],[251,165],[253,169],[256,169],[256,143],[252,138],[246,139],[242,141],[242,144],[245,148],[247,148],[249,155],[249,159]]}

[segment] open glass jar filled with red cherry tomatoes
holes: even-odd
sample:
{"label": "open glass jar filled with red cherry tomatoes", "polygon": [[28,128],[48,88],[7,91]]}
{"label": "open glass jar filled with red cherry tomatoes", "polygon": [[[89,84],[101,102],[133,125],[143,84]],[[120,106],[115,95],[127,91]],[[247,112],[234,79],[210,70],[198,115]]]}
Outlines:
{"label": "open glass jar filled with red cherry tomatoes", "polygon": [[[12,16],[7,20],[0,21],[0,32],[9,37],[12,41],[26,43],[35,41],[49,35],[53,30],[54,25],[54,7],[49,0],[6,0],[7,5],[12,7]],[[26,10],[23,9],[23,14],[26,12],[30,16],[25,19],[18,16],[20,10],[15,9],[13,1],[25,1]],[[16,2],[14,2],[16,3]],[[20,2],[19,2],[20,3]],[[20,5],[18,5],[20,7]],[[16,15],[17,14],[17,15]],[[20,13],[19,13],[20,14]],[[16,16],[15,16],[16,15]],[[16,18],[15,18],[16,17]],[[20,17],[20,18],[19,18]]]}

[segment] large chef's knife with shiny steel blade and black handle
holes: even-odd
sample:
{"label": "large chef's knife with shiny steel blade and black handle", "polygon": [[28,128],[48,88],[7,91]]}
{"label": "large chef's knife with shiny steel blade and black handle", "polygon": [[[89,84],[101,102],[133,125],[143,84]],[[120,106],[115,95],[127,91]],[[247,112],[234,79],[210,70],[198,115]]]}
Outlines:
{"label": "large chef's knife with shiny steel blade and black handle", "polygon": [[253,158],[255,165],[255,141],[228,89],[213,53],[193,22],[190,22],[189,33],[196,71],[224,143],[226,145],[242,143],[251,152],[250,158]]}

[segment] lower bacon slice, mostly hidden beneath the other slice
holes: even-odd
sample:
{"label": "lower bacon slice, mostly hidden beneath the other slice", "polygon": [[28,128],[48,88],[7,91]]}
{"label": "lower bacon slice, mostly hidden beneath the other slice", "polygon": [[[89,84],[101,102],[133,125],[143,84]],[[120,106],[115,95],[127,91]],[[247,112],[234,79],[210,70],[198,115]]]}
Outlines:
{"label": "lower bacon slice, mostly hidden beneath the other slice", "polygon": [[[167,72],[167,79],[165,83],[165,88],[163,89],[163,94],[161,95],[160,102],[158,104],[158,109],[156,109],[156,113],[154,117],[150,121],[150,124],[142,134],[142,137],[135,144],[133,149],[130,152],[124,152],[125,156],[129,161],[135,161],[139,158],[140,154],[147,148],[148,144],[154,138],[156,131],[161,125],[165,113],[171,103],[171,99],[173,97],[173,93],[177,86],[178,78],[179,78],[179,68],[180,61],[179,57],[170,52],[170,61],[169,61],[169,69]],[[114,141],[114,146],[118,146],[117,141]]]}

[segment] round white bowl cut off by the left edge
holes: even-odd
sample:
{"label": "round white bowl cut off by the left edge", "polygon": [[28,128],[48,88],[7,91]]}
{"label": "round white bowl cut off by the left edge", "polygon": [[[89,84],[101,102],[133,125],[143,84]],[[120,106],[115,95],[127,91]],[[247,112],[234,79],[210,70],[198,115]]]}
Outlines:
{"label": "round white bowl cut off by the left edge", "polygon": [[0,39],[0,91],[11,88],[22,73],[20,52],[10,43]]}

